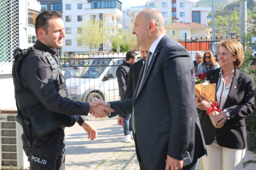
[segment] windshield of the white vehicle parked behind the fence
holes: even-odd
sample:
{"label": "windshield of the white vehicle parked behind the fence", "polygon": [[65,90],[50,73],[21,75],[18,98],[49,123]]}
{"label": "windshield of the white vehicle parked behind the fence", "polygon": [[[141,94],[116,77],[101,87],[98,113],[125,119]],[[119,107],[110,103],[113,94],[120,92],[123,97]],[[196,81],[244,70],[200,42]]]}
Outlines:
{"label": "windshield of the white vehicle parked behind the fence", "polygon": [[107,65],[111,62],[111,59],[93,59],[85,61],[85,66],[76,73],[75,77],[82,78],[97,78],[106,69]]}

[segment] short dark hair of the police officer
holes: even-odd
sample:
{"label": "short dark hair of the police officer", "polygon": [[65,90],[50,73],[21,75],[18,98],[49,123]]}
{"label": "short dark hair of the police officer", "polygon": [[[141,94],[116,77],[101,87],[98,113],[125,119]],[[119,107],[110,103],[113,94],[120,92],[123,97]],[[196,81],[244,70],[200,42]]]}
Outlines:
{"label": "short dark hair of the police officer", "polygon": [[[44,11],[40,13],[37,18],[35,18],[35,34],[37,35],[37,31],[39,28],[42,28],[48,34],[49,28],[49,20],[51,18],[61,18],[62,14],[59,11]],[[38,36],[38,35],[37,35]]]}

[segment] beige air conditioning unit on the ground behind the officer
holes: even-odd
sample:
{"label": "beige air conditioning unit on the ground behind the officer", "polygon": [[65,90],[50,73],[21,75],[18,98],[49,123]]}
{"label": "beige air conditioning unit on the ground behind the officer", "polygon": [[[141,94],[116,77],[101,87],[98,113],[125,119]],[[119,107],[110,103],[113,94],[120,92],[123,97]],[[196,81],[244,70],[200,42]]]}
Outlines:
{"label": "beige air conditioning unit on the ground behind the officer", "polygon": [[[1,112],[0,112],[1,113]],[[21,125],[16,122],[17,113],[0,114],[1,123],[1,169],[26,169],[28,157],[23,151]]]}

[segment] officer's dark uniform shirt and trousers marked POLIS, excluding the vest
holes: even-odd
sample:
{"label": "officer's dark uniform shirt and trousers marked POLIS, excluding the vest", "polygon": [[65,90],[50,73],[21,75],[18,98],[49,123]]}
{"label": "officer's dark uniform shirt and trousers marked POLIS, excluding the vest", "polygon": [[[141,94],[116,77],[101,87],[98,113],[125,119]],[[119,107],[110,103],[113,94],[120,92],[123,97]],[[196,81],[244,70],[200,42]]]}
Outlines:
{"label": "officer's dark uniform shirt and trousers marked POLIS, excluding the vest", "polygon": [[[46,110],[51,111],[51,113],[81,115],[77,122],[79,125],[82,125],[82,123],[87,120],[86,116],[82,115],[88,115],[89,103],[63,98],[61,94],[56,91],[56,81],[52,79],[51,64],[47,61],[46,57],[42,55],[45,52],[49,52],[52,56],[57,55],[58,57],[58,51],[52,50],[52,48],[47,47],[47,45],[39,40],[35,42],[34,48],[42,53],[29,52],[23,57],[18,74],[20,77],[20,85],[27,91],[34,93],[42,106]],[[66,86],[63,79],[64,76],[61,73],[61,67],[58,69],[60,69],[59,76],[61,76],[61,84]],[[23,96],[25,99],[25,95]],[[18,103],[16,104],[19,105]],[[37,107],[31,109],[33,110],[34,108]],[[31,109],[21,109],[21,116],[23,116],[23,118],[30,118],[29,113]],[[34,110],[34,112],[36,111]],[[51,120],[43,122],[42,119],[42,123],[49,125]],[[34,128],[29,129],[26,133],[32,133],[32,145],[28,143],[24,133],[21,135],[23,149],[28,156],[28,161],[30,161],[30,169],[65,169],[64,127],[56,128],[42,137],[39,137]]]}

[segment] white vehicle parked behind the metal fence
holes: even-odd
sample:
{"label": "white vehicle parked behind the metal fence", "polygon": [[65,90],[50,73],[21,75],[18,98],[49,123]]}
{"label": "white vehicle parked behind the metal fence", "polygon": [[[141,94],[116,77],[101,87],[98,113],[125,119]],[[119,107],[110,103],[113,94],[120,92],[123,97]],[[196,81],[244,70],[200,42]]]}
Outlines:
{"label": "white vehicle parked behind the metal fence", "polygon": [[67,89],[74,100],[119,100],[116,69],[123,63],[123,59],[109,59],[107,56],[104,58],[85,60],[85,67],[82,67],[74,77],[66,80]]}

